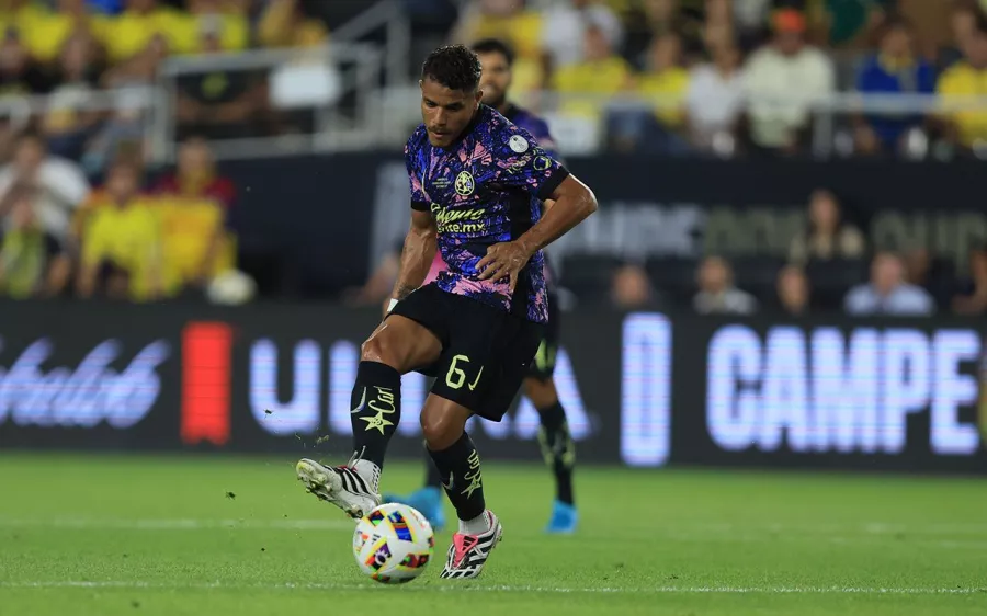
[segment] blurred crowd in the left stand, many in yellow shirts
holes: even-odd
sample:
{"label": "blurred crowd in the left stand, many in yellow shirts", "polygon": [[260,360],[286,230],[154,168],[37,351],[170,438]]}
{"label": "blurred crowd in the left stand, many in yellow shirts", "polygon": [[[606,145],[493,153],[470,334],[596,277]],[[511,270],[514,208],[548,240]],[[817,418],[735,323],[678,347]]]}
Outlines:
{"label": "blurred crowd in the left stand, many in yellow shirts", "polygon": [[[229,271],[237,191],[208,139],[282,124],[263,80],[181,81],[173,170],[144,162],[141,89],[168,56],[317,46],[326,24],[298,0],[2,0],[0,28],[0,105],[30,104],[0,124],[3,295],[147,301]],[[89,104],[101,90],[116,100]]]}

